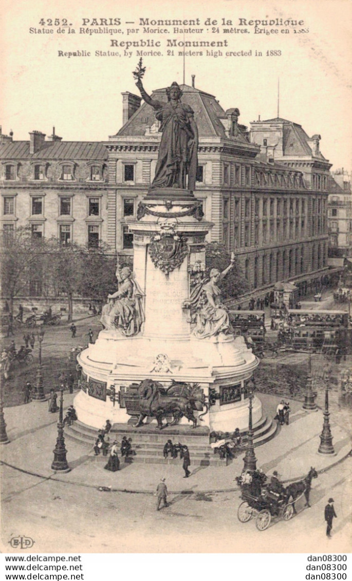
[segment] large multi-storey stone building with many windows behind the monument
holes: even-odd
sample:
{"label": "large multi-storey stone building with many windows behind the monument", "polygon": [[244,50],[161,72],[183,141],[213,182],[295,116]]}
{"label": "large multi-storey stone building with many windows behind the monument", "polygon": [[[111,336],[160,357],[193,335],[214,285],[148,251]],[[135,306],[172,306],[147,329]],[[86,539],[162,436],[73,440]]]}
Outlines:
{"label": "large multi-storey stone building with many windows behind the monument", "polygon": [[[194,79],[193,83],[194,85]],[[199,130],[196,197],[214,224],[208,239],[235,251],[252,291],[276,281],[304,284],[327,269],[328,175],[319,135],[282,119],[250,131],[239,110],[182,85]],[[165,100],[166,89],[153,92]],[[123,127],[109,141],[64,142],[32,131],[29,141],[1,135],[3,231],[30,224],[35,236],[57,236],[132,254],[128,222],[153,180],[159,122],[141,98],[123,94]]]}

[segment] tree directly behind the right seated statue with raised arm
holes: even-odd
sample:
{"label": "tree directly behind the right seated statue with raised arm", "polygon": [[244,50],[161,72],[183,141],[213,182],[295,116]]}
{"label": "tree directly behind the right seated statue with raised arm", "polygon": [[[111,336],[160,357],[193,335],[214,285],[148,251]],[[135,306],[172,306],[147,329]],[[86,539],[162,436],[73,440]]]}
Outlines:
{"label": "tree directly behind the right seated statue with raised arm", "polygon": [[[209,274],[211,268],[218,268],[220,272],[229,266],[231,256],[223,244],[210,242],[206,245],[206,270]],[[249,290],[249,284],[243,274],[238,260],[235,259],[234,267],[221,281],[221,292],[225,299],[236,298]]]}

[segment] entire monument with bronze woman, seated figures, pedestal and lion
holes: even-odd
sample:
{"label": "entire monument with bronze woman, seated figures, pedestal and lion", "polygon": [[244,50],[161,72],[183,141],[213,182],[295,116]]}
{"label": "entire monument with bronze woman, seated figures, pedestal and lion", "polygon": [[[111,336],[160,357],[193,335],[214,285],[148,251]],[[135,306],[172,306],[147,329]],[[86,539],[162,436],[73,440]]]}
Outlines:
{"label": "entire monument with bronze woman, seated figures, pedestal and lion", "polygon": [[[118,289],[103,307],[103,330],[78,362],[81,390],[74,399],[78,420],[101,428],[109,418],[150,429],[186,425],[210,432],[248,426],[246,384],[258,365],[242,337],[234,338],[221,303],[222,272],[205,266],[204,221],[195,197],[198,133],[177,83],[167,101],[156,101],[134,76],[142,98],[160,122],[155,177],[139,203],[133,269],[117,268]],[[253,424],[262,415],[252,402]],[[170,428],[169,428],[170,429]]]}

